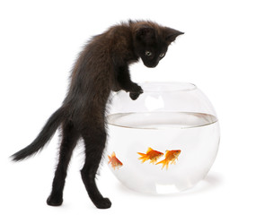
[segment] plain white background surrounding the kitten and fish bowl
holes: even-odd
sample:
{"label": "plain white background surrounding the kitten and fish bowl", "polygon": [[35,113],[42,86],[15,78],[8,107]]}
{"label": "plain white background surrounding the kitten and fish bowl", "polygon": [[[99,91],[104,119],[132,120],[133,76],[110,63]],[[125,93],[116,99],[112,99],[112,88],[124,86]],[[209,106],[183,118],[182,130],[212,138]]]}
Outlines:
{"label": "plain white background surrounding the kitten and fish bowl", "polygon": [[[80,179],[75,150],[61,207],[45,201],[57,162],[57,135],[33,159],[12,163],[66,95],[69,72],[86,40],[128,19],[184,31],[163,61],[131,66],[132,79],[193,82],[216,108],[221,142],[204,181],[175,195],[134,193],[104,163],[98,185],[112,207],[97,210]],[[1,1],[1,214],[255,214],[255,4],[253,1]]]}

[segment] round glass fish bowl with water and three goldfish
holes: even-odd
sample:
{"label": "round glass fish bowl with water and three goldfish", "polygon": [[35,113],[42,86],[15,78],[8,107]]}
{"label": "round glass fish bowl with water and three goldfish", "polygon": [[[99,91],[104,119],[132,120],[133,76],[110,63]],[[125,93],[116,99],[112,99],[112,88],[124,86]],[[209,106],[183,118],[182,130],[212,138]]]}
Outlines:
{"label": "round glass fish bowl with water and three goldfish", "polygon": [[191,83],[139,85],[144,93],[136,100],[123,90],[111,98],[111,172],[142,193],[177,193],[196,185],[216,159],[220,131],[214,107]]}

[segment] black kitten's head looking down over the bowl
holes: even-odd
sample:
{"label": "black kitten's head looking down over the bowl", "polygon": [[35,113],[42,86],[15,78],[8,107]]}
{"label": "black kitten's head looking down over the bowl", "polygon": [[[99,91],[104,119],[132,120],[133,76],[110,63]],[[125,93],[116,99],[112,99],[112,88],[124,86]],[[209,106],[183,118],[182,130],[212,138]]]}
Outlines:
{"label": "black kitten's head looking down over the bowl", "polygon": [[183,34],[156,24],[141,24],[135,32],[135,51],[146,67],[154,68],[165,56],[169,45]]}

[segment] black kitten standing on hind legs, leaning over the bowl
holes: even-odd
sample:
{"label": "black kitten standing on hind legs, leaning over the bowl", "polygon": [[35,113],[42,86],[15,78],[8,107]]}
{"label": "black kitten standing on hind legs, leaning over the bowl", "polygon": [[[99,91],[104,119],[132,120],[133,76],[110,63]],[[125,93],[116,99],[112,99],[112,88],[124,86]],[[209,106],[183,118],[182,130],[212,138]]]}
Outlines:
{"label": "black kitten standing on hind legs, leaning over the bowl", "polygon": [[15,161],[31,156],[61,126],[62,142],[49,205],[62,204],[66,169],[76,142],[83,138],[85,162],[81,175],[85,188],[97,208],[110,208],[110,200],[102,197],[95,183],[106,142],[105,109],[110,90],[126,90],[131,99],[137,99],[143,90],[130,80],[128,65],[141,58],[147,67],[155,67],[181,34],[154,22],[129,21],[93,37],[84,47],[73,68],[63,105],[29,146],[13,154]]}

